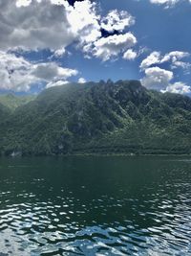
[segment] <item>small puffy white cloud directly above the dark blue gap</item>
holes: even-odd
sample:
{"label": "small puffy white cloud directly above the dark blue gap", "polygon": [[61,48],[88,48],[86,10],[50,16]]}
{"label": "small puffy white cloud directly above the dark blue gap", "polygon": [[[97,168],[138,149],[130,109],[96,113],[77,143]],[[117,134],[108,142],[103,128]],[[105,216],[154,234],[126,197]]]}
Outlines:
{"label": "small puffy white cloud directly above the dark blue gap", "polygon": [[113,10],[103,17],[101,20],[101,28],[108,32],[122,32],[126,27],[135,24],[135,18],[125,11]]}

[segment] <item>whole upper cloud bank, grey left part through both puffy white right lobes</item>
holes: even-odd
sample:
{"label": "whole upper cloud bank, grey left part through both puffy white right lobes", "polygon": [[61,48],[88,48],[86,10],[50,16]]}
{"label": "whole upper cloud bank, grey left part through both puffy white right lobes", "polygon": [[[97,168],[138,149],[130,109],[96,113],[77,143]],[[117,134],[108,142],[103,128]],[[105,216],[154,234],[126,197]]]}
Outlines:
{"label": "whole upper cloud bank, grey left part through both puffy white right lobes", "polygon": [[[124,32],[135,23],[131,14],[113,10],[101,17],[96,2],[90,0],[76,1],[74,6],[66,0],[0,0],[0,10],[0,50],[5,52],[14,48],[51,49],[55,57],[60,57],[67,46],[75,43],[77,49],[87,56],[93,54],[100,58],[101,47],[107,52],[114,47],[112,39],[117,38],[118,47],[122,43],[120,40],[127,35],[131,35],[134,41],[136,39],[130,32]],[[101,37],[102,29],[110,33],[117,31],[121,35],[105,39]],[[131,38],[127,38],[127,47],[121,46],[124,50]],[[97,51],[96,47],[99,48]],[[117,56],[117,53],[120,51],[107,53],[107,59]]]}

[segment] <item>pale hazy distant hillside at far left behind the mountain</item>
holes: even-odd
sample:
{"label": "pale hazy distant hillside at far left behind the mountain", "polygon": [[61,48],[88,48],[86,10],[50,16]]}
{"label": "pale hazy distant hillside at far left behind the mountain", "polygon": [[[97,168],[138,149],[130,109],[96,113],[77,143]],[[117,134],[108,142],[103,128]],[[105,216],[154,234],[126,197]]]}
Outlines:
{"label": "pale hazy distant hillside at far left behind the mountain", "polygon": [[0,104],[5,105],[11,110],[15,110],[20,105],[26,105],[32,100],[35,99],[36,96],[33,95],[24,95],[24,96],[16,96],[14,94],[2,94],[0,95]]}

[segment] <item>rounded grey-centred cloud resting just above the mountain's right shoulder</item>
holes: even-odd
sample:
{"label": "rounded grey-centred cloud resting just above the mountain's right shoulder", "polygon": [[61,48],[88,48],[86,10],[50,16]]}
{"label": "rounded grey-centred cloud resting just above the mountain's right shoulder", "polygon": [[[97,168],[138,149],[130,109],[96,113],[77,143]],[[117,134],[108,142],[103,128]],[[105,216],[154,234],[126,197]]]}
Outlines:
{"label": "rounded grey-centred cloud resting just above the mountain's right shoulder", "polygon": [[141,80],[142,85],[149,89],[165,90],[173,79],[173,72],[159,67],[145,69],[145,77]]}

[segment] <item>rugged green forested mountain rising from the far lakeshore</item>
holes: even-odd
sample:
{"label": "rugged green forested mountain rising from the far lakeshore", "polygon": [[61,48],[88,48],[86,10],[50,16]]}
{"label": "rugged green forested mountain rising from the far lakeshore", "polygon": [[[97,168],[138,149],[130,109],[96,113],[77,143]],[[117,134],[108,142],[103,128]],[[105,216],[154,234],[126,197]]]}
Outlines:
{"label": "rugged green forested mountain rising from the far lakeshore", "polygon": [[139,81],[44,90],[0,126],[2,154],[191,153],[191,99]]}

